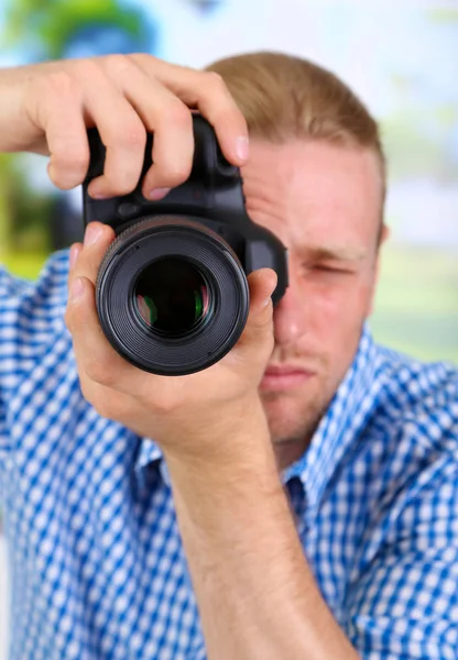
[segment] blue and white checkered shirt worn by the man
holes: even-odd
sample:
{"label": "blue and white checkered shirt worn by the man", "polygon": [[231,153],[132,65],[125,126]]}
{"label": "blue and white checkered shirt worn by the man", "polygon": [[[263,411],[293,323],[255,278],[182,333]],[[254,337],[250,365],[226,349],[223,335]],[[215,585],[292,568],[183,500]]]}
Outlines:
{"label": "blue and white checkered shirt worn by the man", "polygon": [[[84,398],[67,275],[68,250],[36,282],[0,267],[10,658],[201,660],[166,464],[152,438]],[[364,328],[282,481],[323,596],[360,656],[458,658],[457,370],[378,346]]]}

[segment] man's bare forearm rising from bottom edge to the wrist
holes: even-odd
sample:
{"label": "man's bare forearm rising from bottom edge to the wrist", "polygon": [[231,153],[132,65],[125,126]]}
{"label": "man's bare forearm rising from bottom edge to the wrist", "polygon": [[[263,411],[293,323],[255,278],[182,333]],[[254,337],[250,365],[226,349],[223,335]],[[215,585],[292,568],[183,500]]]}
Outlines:
{"label": "man's bare forearm rising from bottom edge to the wrist", "polygon": [[304,557],[259,406],[220,438],[218,465],[167,458],[208,658],[358,658]]}

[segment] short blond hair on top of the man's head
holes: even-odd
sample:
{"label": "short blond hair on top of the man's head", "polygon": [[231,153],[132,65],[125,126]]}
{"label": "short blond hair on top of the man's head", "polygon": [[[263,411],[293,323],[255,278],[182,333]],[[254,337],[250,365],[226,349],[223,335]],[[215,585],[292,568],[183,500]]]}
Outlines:
{"label": "short blond hair on top of the man's head", "polygon": [[372,150],[382,179],[380,242],[386,161],[379,127],[351,89],[329,70],[283,53],[227,57],[205,70],[222,77],[252,136],[276,143],[305,138]]}

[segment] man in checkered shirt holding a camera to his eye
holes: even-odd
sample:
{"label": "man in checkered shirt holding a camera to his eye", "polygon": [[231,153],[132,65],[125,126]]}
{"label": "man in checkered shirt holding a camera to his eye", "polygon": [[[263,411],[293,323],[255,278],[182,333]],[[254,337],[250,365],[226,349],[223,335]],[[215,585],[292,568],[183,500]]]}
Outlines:
{"label": "man in checkered shirt holding a camera to his eye", "polygon": [[36,283],[0,272],[11,659],[454,658],[458,374],[366,326],[386,238],[377,124],[299,58],[210,68],[137,54],[1,73],[1,151],[51,154],[72,188],[96,124],[94,197],[135,187],[146,130],[143,194],[184,182],[198,108],[290,255],[276,308],[273,271],[250,275],[239,343],[182,377],[134,369],[101,332],[110,228]]}

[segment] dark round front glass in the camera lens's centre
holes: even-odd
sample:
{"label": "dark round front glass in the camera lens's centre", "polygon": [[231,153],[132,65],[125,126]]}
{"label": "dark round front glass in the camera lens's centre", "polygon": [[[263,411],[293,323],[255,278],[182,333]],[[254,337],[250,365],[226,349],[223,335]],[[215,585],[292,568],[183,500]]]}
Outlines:
{"label": "dark round front glass in the camera lens's centre", "polygon": [[137,280],[134,299],[140,317],[161,334],[186,334],[209,312],[207,282],[183,257],[166,256],[150,264]]}

